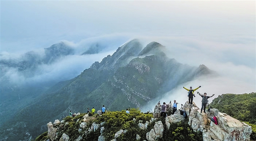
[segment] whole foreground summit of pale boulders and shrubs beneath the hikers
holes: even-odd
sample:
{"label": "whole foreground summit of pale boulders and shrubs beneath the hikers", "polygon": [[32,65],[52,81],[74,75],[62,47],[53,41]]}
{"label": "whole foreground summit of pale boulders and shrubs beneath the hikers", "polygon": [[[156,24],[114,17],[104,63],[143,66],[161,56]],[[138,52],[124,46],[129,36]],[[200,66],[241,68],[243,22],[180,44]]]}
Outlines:
{"label": "whole foreground summit of pale boulders and shrubs beneath the hikers", "polygon": [[[210,108],[206,114],[200,113],[195,103],[190,107],[187,101],[181,108],[188,115],[186,119],[179,110],[166,118],[160,117],[159,109],[160,103],[156,105],[153,113],[145,114],[134,108],[130,110],[130,114],[125,110],[105,114],[98,111],[96,115],[77,113],[74,117],[66,117],[62,121],[57,119],[54,123],[49,122],[48,132],[39,136],[36,141],[166,141],[167,137],[171,136],[168,130],[174,137],[185,136],[180,135],[182,132],[176,134],[178,130],[184,130],[183,127],[174,127],[175,123],[183,121],[186,123],[182,124],[188,125],[186,129],[189,130],[188,138],[192,137],[190,140],[250,141],[252,127],[219,112],[218,109]],[[168,113],[171,107],[167,109]],[[211,121],[212,117],[217,117],[218,123]],[[176,129],[172,131],[172,128]],[[201,135],[195,139],[197,134]]]}

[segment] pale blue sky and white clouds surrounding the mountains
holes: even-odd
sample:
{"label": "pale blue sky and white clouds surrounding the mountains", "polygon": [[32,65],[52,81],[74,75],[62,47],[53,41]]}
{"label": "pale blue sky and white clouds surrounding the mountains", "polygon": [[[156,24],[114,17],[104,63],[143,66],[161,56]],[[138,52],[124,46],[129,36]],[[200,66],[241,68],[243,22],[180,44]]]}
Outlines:
{"label": "pale blue sky and white clouds surrounding the mountains", "polygon": [[[1,0],[0,54],[1,58],[18,58],[64,41],[77,53],[60,60],[58,67],[41,66],[43,71],[30,78],[20,77],[15,70],[10,74],[24,81],[65,74],[72,74],[66,78],[71,79],[93,62],[112,55],[126,41],[138,38],[144,45],[161,43],[168,50],[166,54],[178,62],[204,64],[219,74],[198,78],[185,87],[201,85],[200,93],[214,93],[214,97],[256,92],[255,5],[255,1]],[[79,56],[92,43],[101,43],[103,50]],[[186,90],[177,86],[163,95],[184,103],[186,96],[176,98],[180,93]],[[152,101],[153,107],[158,100]],[[195,101],[200,103],[201,99],[196,97]]]}

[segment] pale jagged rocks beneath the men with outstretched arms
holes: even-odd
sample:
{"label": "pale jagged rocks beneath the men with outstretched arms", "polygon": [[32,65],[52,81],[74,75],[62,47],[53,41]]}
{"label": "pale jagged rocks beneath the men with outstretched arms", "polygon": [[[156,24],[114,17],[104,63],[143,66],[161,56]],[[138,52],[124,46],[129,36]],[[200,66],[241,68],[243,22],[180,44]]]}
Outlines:
{"label": "pale jagged rocks beneath the men with outstretched arms", "polygon": [[[154,118],[160,118],[160,110],[161,106],[158,103],[154,110]],[[183,110],[188,115],[188,124],[195,132],[201,131],[203,133],[204,141],[250,141],[252,127],[219,112],[218,109],[210,108],[210,112],[200,113],[200,109],[195,103],[193,103],[193,107],[190,107],[187,101]],[[211,121],[214,116],[217,117],[217,125]],[[166,126],[169,129],[170,123],[180,122],[184,119],[183,115],[176,111],[173,115],[166,117]]]}

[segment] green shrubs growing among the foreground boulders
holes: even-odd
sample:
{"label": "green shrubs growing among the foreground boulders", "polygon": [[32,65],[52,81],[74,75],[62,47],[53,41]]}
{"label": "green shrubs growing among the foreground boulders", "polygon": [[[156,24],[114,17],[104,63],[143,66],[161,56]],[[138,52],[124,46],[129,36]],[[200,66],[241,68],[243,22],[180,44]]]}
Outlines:
{"label": "green shrubs growing among the foreground boulders", "polygon": [[[191,141],[202,141],[202,132],[193,132],[193,129],[187,124],[188,119],[181,121],[179,123],[172,123],[170,129],[166,129],[165,119],[159,118],[155,122],[148,124],[147,129],[142,130],[138,127],[139,120],[142,120],[143,123],[150,121],[153,117],[152,113],[142,113],[138,108],[131,108],[130,114],[127,114],[125,110],[107,112],[102,115],[94,115],[87,119],[87,127],[82,129],[81,133],[78,132],[80,128],[80,123],[83,122],[83,116],[81,114],[78,117],[66,117],[64,118],[65,122],[68,122],[67,125],[59,128],[57,131],[57,140],[60,139],[63,133],[67,134],[70,140],[77,139],[80,135],[83,137],[84,141],[97,141],[100,136],[100,129],[98,128],[95,132],[86,133],[89,127],[93,123],[102,123],[104,122],[104,132],[103,135],[106,141],[114,139],[114,135],[120,129],[127,130],[125,134],[120,135],[116,140],[117,141],[134,141],[136,140],[136,134],[140,135],[140,140],[146,140],[146,133],[154,128],[155,122],[160,121],[164,125],[163,138],[158,139],[158,141],[183,141],[185,139]],[[134,121],[133,118],[136,120]],[[79,120],[79,121],[78,121]],[[47,139],[47,132],[38,136],[35,141],[44,141]]]}

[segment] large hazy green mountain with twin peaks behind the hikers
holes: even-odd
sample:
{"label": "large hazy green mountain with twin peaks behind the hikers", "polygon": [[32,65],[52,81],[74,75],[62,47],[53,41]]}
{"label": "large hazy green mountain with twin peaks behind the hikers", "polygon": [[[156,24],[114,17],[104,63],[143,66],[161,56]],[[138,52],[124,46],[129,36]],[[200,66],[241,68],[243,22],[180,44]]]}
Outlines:
{"label": "large hazy green mountain with twin peaks behind the hikers", "polygon": [[[58,47],[49,49],[49,55],[55,49]],[[55,56],[72,54],[69,48],[65,49]],[[97,110],[102,104],[108,110],[142,107],[179,84],[212,73],[205,65],[191,67],[167,58],[164,49],[157,42],[143,47],[137,39],[129,41],[77,77],[49,88],[34,103],[20,110],[15,122],[22,121],[26,124],[24,132],[35,137],[46,130],[46,122],[66,117],[69,110],[85,112],[87,107]],[[19,134],[10,132],[10,135],[9,140],[24,139]]]}

